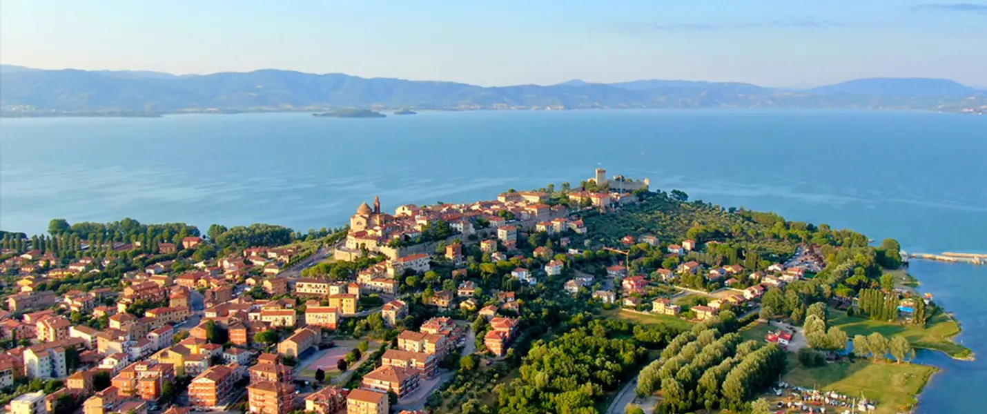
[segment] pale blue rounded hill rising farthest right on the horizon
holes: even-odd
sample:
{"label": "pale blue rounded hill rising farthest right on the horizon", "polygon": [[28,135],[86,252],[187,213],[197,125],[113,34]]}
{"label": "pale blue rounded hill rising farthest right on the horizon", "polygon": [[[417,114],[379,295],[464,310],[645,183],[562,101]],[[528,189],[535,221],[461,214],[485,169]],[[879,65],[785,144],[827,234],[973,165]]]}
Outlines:
{"label": "pale blue rounded hill rising farthest right on the horizon", "polygon": [[961,97],[976,89],[949,79],[871,78],[856,79],[808,90],[814,94],[858,94],[875,97]]}

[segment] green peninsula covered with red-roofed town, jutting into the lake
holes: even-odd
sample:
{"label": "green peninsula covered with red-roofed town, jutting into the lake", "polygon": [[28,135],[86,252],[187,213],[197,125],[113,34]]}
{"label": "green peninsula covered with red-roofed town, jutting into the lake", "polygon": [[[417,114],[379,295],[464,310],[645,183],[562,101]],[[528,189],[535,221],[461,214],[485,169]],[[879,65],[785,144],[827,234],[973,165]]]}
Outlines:
{"label": "green peninsula covered with red-roofed town, jutting into the lake", "polygon": [[0,232],[0,404],[880,414],[914,409],[937,371],[916,350],[973,358],[892,239],[604,169],[392,201],[308,233],[129,218]]}

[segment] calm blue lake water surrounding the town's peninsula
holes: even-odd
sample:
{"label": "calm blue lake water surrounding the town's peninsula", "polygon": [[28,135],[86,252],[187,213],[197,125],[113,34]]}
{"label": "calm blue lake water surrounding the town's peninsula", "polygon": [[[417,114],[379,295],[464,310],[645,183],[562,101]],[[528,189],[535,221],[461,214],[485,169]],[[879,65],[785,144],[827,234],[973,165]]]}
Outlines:
{"label": "calm blue lake water surrounding the town's peninsula", "polygon": [[[379,194],[489,199],[597,167],[723,206],[851,228],[906,250],[987,252],[987,116],[905,111],[610,110],[0,119],[0,228],[184,221],[341,226]],[[975,412],[987,383],[987,268],[916,263],[981,358],[953,362],[920,412]]]}

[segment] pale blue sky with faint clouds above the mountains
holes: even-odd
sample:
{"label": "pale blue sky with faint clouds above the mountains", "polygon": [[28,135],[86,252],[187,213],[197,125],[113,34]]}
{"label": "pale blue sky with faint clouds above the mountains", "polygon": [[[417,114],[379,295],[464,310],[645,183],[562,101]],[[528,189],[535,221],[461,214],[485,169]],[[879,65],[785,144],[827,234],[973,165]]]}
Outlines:
{"label": "pale blue sky with faint clouds above the mountains", "polygon": [[987,86],[987,2],[0,0],[0,63],[483,86],[868,77]]}

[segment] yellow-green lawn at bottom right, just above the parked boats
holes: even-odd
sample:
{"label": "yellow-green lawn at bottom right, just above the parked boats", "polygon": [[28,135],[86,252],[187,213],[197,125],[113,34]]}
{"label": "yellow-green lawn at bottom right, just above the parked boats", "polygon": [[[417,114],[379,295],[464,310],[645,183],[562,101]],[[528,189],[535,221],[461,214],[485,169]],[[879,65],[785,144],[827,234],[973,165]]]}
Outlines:
{"label": "yellow-green lawn at bottom right, just above the parked boats", "polygon": [[919,364],[856,361],[812,369],[797,366],[783,380],[848,396],[860,396],[863,392],[867,398],[877,401],[875,414],[893,414],[907,411],[914,405],[915,396],[937,371],[935,367]]}

